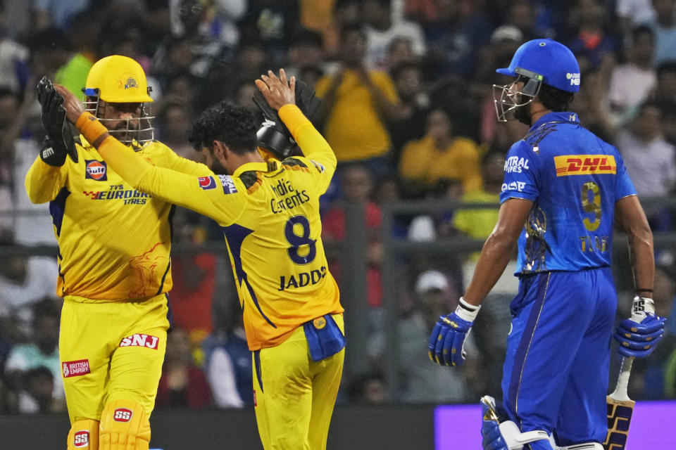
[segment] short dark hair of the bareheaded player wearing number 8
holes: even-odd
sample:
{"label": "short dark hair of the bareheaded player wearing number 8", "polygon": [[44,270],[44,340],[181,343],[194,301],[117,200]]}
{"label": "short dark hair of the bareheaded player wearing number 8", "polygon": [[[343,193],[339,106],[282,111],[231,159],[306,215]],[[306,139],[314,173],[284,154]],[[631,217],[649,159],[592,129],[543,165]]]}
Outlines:
{"label": "short dark hair of the bareheaded player wearing number 8", "polygon": [[192,124],[188,140],[197,151],[211,149],[213,141],[221,141],[234,153],[244,155],[256,150],[258,124],[244,106],[223,101],[209,108]]}

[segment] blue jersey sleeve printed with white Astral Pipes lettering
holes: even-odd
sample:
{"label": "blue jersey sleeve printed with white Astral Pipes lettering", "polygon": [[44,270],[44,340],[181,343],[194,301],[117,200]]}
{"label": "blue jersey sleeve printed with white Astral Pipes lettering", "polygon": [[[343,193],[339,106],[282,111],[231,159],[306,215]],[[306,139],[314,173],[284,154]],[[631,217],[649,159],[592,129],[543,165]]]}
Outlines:
{"label": "blue jersey sleeve printed with white Astral Pipes lettering", "polygon": [[539,196],[538,176],[532,150],[523,141],[518,141],[507,153],[500,203],[504,203],[509,198],[537,200]]}

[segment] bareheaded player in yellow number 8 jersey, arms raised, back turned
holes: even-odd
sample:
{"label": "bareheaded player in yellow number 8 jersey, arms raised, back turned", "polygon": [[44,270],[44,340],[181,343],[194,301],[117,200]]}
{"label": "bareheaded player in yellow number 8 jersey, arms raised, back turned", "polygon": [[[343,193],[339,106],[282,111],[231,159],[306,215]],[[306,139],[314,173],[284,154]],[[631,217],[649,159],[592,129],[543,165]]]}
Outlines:
{"label": "bareheaded player in yellow number 8 jersey, arms raised, back turned", "polygon": [[153,198],[211,217],[223,227],[244,328],[253,351],[261,441],[271,449],[325,449],[344,360],[343,308],[320,239],[319,197],[336,158],[295,103],[295,79],[256,80],[305,154],[267,162],[256,123],[222,103],[196,122],[191,141],[218,176],[149,164],[121,145],[61,86],[68,120],[99,143],[108,166]]}

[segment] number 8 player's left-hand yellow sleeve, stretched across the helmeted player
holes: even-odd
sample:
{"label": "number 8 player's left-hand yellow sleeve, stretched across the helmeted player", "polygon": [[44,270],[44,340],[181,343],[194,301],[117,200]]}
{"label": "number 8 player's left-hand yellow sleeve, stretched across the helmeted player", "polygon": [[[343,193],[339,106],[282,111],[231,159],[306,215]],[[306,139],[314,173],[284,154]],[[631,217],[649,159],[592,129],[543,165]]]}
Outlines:
{"label": "number 8 player's left-hand yellow sleeve, stretched across the helmeted player", "polygon": [[246,188],[237,177],[196,176],[156,167],[112,136],[101,143],[99,154],[139,191],[204,214],[221,225],[232,224],[247,201]]}

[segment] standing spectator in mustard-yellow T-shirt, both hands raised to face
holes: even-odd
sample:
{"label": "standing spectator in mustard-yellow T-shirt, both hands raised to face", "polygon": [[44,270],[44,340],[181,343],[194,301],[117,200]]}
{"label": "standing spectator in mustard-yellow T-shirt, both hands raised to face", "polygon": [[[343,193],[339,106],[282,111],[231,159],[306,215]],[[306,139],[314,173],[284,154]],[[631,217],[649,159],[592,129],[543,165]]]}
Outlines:
{"label": "standing spectator in mustard-yellow T-shirt, both hands raised to face", "polygon": [[339,165],[361,161],[375,176],[387,174],[392,142],[384,119],[401,113],[394,83],[387,73],[365,68],[366,37],[360,27],[343,28],[340,49],[339,67],[316,86],[323,98],[326,140]]}

